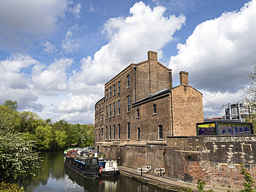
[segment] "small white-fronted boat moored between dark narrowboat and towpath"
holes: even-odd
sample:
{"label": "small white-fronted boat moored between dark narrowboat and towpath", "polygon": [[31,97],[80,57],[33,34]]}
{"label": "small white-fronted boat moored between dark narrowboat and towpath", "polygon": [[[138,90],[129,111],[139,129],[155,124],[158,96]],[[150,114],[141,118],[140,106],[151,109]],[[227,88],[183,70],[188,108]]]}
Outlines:
{"label": "small white-fronted boat moored between dark narrowboat and towpath", "polygon": [[102,176],[120,175],[116,160],[99,160],[99,166]]}

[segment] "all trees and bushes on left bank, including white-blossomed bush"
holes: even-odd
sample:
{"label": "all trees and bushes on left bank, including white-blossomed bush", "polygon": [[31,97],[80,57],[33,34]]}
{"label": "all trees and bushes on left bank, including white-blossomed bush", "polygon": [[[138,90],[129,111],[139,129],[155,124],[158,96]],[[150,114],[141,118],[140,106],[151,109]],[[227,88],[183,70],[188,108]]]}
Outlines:
{"label": "all trees and bushes on left bank, including white-blossomed bush", "polygon": [[17,111],[17,102],[0,105],[0,179],[12,180],[33,174],[40,167],[40,151],[60,151],[92,146],[92,124],[51,122],[30,111]]}

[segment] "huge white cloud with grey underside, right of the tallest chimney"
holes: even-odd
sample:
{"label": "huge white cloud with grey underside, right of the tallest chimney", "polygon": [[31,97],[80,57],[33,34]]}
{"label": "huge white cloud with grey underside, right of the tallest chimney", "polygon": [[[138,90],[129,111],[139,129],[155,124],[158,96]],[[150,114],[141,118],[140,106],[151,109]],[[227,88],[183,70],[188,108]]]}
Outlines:
{"label": "huge white cloud with grey underside, right of the tallest chimney", "polygon": [[239,12],[196,26],[186,44],[178,44],[169,67],[174,73],[187,70],[198,89],[235,93],[244,88],[256,61],[255,9],[256,1],[250,1]]}

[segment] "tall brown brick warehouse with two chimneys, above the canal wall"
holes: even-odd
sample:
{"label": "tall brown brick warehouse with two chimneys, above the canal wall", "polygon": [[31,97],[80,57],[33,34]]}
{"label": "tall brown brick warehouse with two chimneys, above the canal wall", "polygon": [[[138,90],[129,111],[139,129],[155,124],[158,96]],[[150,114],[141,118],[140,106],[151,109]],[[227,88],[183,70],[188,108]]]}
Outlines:
{"label": "tall brown brick warehouse with two chimneys, above the canal wall", "polygon": [[95,148],[124,143],[167,141],[167,136],[196,135],[203,122],[202,94],[188,85],[181,71],[172,87],[172,70],[157,61],[157,52],[130,64],[104,85],[95,104]]}

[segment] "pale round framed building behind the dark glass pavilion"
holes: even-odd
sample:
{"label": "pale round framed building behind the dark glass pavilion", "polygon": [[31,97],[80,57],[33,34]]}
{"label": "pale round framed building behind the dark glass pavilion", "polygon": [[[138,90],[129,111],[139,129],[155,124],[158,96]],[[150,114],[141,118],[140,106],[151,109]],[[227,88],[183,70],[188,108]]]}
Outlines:
{"label": "pale round framed building behind the dark glass pavilion", "polygon": [[242,102],[223,104],[222,106],[222,115],[224,119],[239,119],[241,122],[245,122],[245,118],[248,114],[248,110]]}

